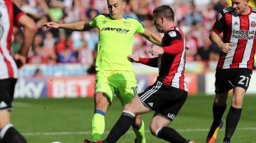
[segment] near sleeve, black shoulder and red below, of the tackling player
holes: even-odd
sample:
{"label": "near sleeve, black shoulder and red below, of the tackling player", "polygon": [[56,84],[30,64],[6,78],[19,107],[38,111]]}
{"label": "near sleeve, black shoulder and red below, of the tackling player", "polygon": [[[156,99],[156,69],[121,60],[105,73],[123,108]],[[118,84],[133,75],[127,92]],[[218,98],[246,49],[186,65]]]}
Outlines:
{"label": "near sleeve, black shoulder and red below, of the tackling player", "polygon": [[176,30],[169,31],[168,35],[166,35],[166,39],[169,41],[169,45],[163,47],[164,53],[176,55],[184,50],[184,42],[181,37],[181,33]]}

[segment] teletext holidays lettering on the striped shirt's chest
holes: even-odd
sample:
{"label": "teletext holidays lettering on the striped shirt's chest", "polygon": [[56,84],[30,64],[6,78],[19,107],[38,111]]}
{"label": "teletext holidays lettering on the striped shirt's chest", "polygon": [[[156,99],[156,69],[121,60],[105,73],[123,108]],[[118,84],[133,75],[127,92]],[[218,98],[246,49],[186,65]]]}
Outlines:
{"label": "teletext holidays lettering on the striped shirt's chest", "polygon": [[232,30],[232,37],[235,39],[254,39],[255,31],[250,30]]}

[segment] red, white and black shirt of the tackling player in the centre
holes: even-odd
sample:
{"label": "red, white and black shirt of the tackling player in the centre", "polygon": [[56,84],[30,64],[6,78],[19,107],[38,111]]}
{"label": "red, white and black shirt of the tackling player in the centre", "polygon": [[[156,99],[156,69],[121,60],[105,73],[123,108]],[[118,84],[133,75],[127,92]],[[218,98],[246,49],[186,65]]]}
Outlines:
{"label": "red, white and black shirt of the tackling player in the centre", "polygon": [[159,68],[158,81],[187,91],[185,77],[186,40],[178,27],[171,27],[162,39],[163,55],[156,58],[140,58],[140,63]]}

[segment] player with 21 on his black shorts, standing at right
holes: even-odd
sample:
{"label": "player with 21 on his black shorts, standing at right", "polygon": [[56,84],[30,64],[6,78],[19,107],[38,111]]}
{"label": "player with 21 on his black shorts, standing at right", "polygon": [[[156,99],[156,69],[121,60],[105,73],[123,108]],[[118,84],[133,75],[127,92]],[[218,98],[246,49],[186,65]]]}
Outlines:
{"label": "player with 21 on his black shorts, standing at right", "polygon": [[[219,34],[223,32],[223,40]],[[224,142],[230,142],[242,112],[242,102],[249,86],[256,45],[256,9],[249,0],[232,0],[232,6],[217,16],[210,40],[221,50],[216,68],[216,98],[207,143],[217,138],[219,124],[226,109],[229,90],[233,89],[232,105],[226,119]]]}

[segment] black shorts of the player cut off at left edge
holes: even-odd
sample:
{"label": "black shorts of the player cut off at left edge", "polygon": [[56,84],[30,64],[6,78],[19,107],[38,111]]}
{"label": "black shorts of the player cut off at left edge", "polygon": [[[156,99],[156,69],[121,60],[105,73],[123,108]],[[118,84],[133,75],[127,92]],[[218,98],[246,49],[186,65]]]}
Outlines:
{"label": "black shorts of the player cut off at left edge", "polygon": [[17,79],[7,78],[0,80],[0,110],[12,110],[12,100]]}

